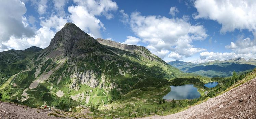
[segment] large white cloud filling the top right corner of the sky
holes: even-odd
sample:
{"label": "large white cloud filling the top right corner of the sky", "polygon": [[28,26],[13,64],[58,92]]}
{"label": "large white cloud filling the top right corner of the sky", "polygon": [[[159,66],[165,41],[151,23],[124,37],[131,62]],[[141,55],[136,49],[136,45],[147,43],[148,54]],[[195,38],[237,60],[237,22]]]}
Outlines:
{"label": "large white cloud filling the top right corner of the sky", "polygon": [[194,18],[206,18],[222,24],[221,32],[235,29],[256,29],[255,0],[196,0],[198,14]]}

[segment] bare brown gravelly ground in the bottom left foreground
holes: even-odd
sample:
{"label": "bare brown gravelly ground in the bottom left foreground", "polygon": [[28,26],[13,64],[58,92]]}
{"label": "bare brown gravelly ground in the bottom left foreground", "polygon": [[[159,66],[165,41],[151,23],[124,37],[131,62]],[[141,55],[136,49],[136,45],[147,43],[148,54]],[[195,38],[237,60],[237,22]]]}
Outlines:
{"label": "bare brown gravelly ground in the bottom left foreground", "polygon": [[[54,114],[54,115],[49,115]],[[0,102],[0,119],[88,119],[87,114],[76,114],[72,112],[63,112],[59,109],[36,109],[22,105]]]}

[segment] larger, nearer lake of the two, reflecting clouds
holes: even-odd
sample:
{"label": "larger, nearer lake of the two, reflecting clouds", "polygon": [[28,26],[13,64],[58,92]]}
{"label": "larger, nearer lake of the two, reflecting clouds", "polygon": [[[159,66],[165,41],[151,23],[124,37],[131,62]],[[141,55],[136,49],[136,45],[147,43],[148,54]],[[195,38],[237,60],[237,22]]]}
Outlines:
{"label": "larger, nearer lake of the two, reflecting clouds", "polygon": [[170,86],[171,91],[166,94],[163,99],[181,100],[181,99],[195,99],[200,97],[200,93],[193,84],[186,84],[181,86]]}

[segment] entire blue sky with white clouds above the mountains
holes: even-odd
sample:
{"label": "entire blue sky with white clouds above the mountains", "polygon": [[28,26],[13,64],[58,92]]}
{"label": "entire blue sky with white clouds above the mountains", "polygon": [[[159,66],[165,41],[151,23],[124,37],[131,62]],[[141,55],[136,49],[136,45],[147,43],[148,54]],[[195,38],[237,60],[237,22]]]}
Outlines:
{"label": "entire blue sky with white clouds above the mountains", "polygon": [[256,1],[10,0],[0,51],[45,48],[66,22],[94,38],[148,48],[166,62],[256,58]]}

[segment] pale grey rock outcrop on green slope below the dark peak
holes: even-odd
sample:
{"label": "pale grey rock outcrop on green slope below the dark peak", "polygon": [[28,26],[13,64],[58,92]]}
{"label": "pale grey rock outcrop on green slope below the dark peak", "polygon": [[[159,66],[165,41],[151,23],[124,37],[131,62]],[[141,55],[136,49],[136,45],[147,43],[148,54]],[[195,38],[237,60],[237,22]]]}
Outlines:
{"label": "pale grey rock outcrop on green slope below the dark peak", "polygon": [[86,70],[85,72],[76,72],[71,77],[73,83],[70,88],[79,90],[78,84],[86,84],[91,88],[95,88],[99,85],[99,81],[95,77],[95,72],[93,70]]}

